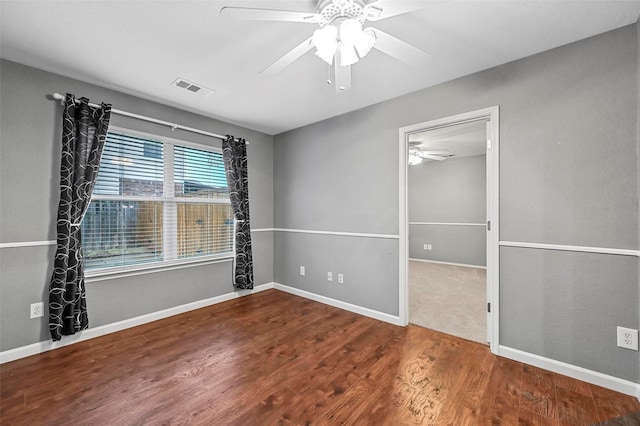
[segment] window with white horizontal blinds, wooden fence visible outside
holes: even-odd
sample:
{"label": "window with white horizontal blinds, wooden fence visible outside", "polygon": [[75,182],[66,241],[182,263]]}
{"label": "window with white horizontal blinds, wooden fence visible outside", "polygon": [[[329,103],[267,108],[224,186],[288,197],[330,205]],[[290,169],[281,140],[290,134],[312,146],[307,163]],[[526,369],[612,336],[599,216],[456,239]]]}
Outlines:
{"label": "window with white horizontal blinds, wooden fence visible outside", "polygon": [[110,131],[82,221],[85,270],[230,256],[222,153]]}

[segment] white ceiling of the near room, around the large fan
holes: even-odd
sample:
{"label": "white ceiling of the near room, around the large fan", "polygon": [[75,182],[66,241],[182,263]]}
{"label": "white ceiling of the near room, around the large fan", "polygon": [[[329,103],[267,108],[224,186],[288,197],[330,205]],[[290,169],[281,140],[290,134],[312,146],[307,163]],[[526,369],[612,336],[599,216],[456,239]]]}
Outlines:
{"label": "white ceiling of the near room, around the large fan", "polygon": [[[416,69],[374,50],[352,67],[353,88],[340,94],[325,83],[327,65],[312,52],[277,75],[259,74],[309,37],[314,24],[219,15],[223,6],[313,11],[313,0],[4,0],[0,55],[278,134],[632,24],[640,16],[640,0],[418,3],[424,8],[375,27],[428,52],[430,63]],[[177,77],[215,93],[202,97],[171,86]]]}

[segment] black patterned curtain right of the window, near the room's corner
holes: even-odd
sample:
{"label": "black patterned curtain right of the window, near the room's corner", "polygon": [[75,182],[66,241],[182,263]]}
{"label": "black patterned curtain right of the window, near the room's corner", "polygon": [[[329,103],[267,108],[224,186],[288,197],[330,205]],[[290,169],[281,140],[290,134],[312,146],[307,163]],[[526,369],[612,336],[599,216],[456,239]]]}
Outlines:
{"label": "black patterned curtain right of the window, near the room's corner", "polygon": [[227,175],[229,198],[234,217],[233,285],[237,290],[253,288],[253,257],[249,224],[249,179],[247,144],[227,135],[222,141],[222,158]]}

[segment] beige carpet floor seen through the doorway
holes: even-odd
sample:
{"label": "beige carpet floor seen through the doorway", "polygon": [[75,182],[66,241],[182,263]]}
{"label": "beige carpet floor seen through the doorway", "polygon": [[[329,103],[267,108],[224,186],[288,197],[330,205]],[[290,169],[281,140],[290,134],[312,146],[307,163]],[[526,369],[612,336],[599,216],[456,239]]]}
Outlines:
{"label": "beige carpet floor seen through the doorway", "polygon": [[409,321],[487,343],[487,271],[409,261]]}

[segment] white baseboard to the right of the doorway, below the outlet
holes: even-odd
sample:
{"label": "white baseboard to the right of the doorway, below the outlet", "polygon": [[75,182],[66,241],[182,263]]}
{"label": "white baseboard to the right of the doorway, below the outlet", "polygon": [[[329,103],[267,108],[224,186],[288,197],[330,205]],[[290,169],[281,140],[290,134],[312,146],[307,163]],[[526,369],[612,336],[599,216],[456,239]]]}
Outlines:
{"label": "white baseboard to the right of the doorway, below the outlet", "polygon": [[602,386],[625,395],[635,396],[640,400],[640,384],[620,379],[618,377],[609,376],[607,374],[598,373],[597,371],[587,370],[562,361],[556,361],[551,358],[545,358],[540,355],[531,354],[518,349],[500,346],[500,356],[553,371],[554,373],[564,376],[573,377],[583,382]]}

